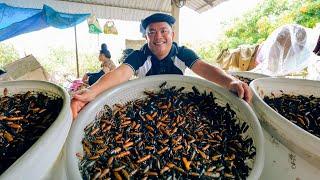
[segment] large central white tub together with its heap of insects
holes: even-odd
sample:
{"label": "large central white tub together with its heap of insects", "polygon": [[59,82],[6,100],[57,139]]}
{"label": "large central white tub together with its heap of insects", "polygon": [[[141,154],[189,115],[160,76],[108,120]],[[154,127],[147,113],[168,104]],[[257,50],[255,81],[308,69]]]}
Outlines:
{"label": "large central white tub together with its heap of insects", "polygon": [[136,79],[104,92],[72,125],[68,179],[259,179],[262,128],[251,107],[209,81]]}

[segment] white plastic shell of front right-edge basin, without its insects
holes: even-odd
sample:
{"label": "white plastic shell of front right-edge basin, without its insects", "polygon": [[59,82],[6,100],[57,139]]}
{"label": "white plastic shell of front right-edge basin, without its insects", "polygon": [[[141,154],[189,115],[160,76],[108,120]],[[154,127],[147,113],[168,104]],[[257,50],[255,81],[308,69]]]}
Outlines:
{"label": "white plastic shell of front right-edge basin, without its insects", "polygon": [[262,78],[251,82],[253,108],[262,126],[288,149],[300,155],[311,164],[320,167],[320,138],[295,125],[263,101],[264,96],[314,95],[320,97],[320,81]]}

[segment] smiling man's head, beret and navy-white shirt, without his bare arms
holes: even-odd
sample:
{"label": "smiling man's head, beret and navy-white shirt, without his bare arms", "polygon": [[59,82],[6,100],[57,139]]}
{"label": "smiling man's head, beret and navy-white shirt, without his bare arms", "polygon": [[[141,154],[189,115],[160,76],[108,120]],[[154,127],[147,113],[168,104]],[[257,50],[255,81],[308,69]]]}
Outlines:
{"label": "smiling man's head, beret and navy-white shirt, without his bare arms", "polygon": [[172,25],[175,19],[166,14],[153,14],[141,23],[147,44],[133,52],[124,64],[138,77],[157,74],[183,74],[199,57],[191,50],[173,42]]}

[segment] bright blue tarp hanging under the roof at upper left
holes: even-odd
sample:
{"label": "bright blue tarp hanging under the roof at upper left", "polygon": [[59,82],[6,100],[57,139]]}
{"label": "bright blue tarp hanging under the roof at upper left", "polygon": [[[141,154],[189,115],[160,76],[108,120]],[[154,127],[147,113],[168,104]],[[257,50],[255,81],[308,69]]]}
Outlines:
{"label": "bright blue tarp hanging under the roof at upper left", "polygon": [[32,9],[0,3],[0,41],[49,26],[59,29],[73,27],[89,15],[60,13],[47,5],[43,9]]}

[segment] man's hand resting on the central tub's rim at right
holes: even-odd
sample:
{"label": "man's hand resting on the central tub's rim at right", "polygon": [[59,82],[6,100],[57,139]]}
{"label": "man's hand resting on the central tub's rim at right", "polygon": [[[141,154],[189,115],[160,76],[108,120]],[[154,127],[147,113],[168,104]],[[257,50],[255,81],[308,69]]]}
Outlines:
{"label": "man's hand resting on the central tub's rim at right", "polygon": [[237,93],[238,97],[244,99],[248,103],[251,103],[252,92],[247,83],[240,80],[233,80],[230,82],[228,89]]}

